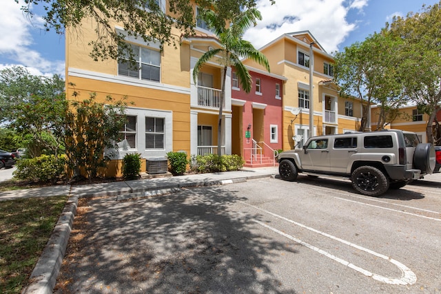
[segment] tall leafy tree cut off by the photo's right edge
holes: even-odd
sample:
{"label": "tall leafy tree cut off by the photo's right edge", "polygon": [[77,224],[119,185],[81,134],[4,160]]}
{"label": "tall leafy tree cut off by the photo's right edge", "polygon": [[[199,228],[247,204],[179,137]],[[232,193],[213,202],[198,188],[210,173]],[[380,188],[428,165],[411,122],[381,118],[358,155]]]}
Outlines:
{"label": "tall leafy tree cut off by the photo's right edge", "polygon": [[407,17],[396,17],[382,30],[405,44],[394,54],[402,56],[398,65],[400,82],[404,93],[415,101],[420,112],[429,115],[427,138],[431,143],[441,140],[433,138],[433,123],[438,125],[435,116],[441,109],[440,23],[441,2],[423,6],[420,13],[410,12]]}

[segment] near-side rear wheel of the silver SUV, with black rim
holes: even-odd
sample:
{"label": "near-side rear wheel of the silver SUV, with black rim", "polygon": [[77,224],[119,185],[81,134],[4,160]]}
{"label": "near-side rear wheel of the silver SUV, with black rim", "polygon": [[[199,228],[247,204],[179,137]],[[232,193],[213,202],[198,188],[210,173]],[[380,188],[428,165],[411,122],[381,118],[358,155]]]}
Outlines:
{"label": "near-side rear wheel of the silver SUV, with black rim", "polygon": [[353,189],[366,196],[380,196],[389,189],[389,180],[376,167],[358,167],[351,174]]}

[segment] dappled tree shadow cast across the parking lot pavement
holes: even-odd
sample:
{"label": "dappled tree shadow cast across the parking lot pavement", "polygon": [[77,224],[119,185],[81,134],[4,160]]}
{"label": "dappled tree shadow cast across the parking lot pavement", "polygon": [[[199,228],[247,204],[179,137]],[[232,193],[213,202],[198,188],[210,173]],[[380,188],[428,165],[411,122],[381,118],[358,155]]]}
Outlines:
{"label": "dappled tree shadow cast across the parking lot pavement", "polygon": [[258,215],[232,209],[243,200],[221,187],[90,199],[55,293],[296,293],[267,265],[296,251],[262,235]]}

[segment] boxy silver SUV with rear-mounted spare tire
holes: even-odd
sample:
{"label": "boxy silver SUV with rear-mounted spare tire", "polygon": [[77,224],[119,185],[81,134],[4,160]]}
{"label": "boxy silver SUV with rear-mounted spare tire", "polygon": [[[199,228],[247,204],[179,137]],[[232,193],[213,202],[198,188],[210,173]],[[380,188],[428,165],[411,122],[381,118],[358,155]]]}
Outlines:
{"label": "boxy silver SUV with rear-mounted spare tire", "polygon": [[278,162],[283,180],[294,181],[298,173],[342,176],[359,193],[380,196],[432,174],[435,149],[415,133],[389,129],[311,137],[303,149],[280,153]]}

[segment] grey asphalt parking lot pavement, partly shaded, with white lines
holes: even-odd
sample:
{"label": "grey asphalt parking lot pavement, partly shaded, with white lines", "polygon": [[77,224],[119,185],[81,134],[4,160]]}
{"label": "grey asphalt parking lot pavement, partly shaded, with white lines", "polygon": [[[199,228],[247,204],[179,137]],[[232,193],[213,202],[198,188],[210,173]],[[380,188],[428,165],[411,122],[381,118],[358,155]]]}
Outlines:
{"label": "grey asphalt parking lot pavement, partly shaded, with white lines", "polygon": [[438,293],[433,185],[438,175],[373,198],[349,181],[261,178],[92,198],[55,292]]}

